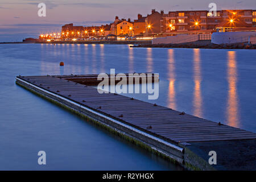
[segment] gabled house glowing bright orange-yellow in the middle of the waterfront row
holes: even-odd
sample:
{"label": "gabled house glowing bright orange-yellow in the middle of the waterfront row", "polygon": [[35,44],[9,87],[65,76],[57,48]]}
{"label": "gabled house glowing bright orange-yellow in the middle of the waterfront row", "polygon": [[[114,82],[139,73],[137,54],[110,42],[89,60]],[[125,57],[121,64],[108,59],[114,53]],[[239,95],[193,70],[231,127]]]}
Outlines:
{"label": "gabled house glowing bright orange-yellow in the middle of the waterfront row", "polygon": [[122,22],[117,24],[117,35],[134,35],[133,22],[130,19],[127,21],[125,19]]}

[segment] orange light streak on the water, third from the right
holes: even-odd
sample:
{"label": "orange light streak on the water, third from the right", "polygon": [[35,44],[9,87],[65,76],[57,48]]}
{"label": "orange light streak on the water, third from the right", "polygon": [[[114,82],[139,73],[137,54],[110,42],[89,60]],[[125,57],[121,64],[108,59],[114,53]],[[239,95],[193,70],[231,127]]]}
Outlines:
{"label": "orange light streak on the water, third from the right", "polygon": [[176,109],[175,101],[175,60],[174,60],[174,49],[168,49],[168,75],[169,81],[168,87],[168,107]]}

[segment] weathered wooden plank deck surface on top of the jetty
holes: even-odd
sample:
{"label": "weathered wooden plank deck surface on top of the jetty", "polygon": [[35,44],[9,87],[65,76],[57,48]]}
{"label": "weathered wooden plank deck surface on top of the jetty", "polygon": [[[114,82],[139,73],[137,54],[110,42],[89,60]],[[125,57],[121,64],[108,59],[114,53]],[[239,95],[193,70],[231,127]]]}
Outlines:
{"label": "weathered wooden plank deck surface on top of the jetty", "polygon": [[218,125],[217,122],[189,114],[180,115],[180,111],[136,99],[131,100],[118,94],[100,94],[92,86],[72,81],[77,78],[95,79],[96,75],[19,76],[18,78],[175,143],[256,139],[256,134],[249,131]]}

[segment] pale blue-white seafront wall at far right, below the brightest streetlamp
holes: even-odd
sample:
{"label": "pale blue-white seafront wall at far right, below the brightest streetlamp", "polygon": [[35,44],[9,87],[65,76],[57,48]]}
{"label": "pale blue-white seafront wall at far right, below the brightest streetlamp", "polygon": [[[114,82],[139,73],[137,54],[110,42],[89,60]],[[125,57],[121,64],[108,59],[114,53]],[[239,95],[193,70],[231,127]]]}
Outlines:
{"label": "pale blue-white seafront wall at far right, below the brightest streetlamp", "polygon": [[250,32],[213,32],[212,43],[214,44],[230,44],[248,42],[249,36],[256,36],[256,31]]}

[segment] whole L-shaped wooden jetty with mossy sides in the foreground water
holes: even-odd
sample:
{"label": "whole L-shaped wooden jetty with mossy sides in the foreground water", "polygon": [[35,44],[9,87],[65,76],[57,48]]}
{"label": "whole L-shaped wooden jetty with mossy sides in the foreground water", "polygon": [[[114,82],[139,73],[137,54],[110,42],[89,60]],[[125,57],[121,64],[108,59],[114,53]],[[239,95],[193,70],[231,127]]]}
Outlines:
{"label": "whole L-shaped wooden jetty with mossy sides in the foreground water", "polygon": [[[100,94],[88,86],[96,81],[97,75],[16,77],[16,84],[187,168],[255,170],[255,133],[119,94]],[[217,152],[216,165],[208,163],[209,151]]]}

